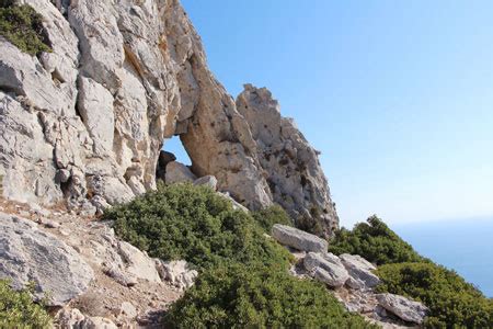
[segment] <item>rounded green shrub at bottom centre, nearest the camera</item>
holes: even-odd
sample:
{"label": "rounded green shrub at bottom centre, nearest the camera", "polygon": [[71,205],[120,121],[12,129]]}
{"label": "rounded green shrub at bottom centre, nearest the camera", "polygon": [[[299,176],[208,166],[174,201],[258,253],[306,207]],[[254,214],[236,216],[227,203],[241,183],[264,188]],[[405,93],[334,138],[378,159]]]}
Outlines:
{"label": "rounded green shrub at bottom centre, nearest the camera", "polygon": [[286,269],[241,264],[198,276],[167,315],[172,328],[378,328],[339,304],[314,281]]}

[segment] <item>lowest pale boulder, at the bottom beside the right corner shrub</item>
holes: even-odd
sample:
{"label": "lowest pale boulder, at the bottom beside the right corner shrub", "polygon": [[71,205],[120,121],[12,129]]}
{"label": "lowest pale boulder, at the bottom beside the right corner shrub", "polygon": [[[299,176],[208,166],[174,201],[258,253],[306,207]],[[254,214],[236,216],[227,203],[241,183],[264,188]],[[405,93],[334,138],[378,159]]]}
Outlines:
{"label": "lowest pale boulder, at the bottom beside the right corner shrub", "polygon": [[408,322],[421,325],[428,311],[428,308],[423,304],[410,300],[403,296],[378,294],[376,297],[381,307]]}

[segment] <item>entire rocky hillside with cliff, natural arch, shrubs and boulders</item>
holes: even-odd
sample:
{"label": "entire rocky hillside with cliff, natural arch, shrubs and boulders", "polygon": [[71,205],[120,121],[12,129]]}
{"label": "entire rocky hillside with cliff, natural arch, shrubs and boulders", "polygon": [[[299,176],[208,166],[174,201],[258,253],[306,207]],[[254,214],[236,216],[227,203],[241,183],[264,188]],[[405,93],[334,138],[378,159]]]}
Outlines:
{"label": "entire rocky hillside with cliff, natural arch, shrubs and boulders", "polygon": [[492,325],[377,217],[339,228],[319,151],[177,0],[0,0],[0,328]]}

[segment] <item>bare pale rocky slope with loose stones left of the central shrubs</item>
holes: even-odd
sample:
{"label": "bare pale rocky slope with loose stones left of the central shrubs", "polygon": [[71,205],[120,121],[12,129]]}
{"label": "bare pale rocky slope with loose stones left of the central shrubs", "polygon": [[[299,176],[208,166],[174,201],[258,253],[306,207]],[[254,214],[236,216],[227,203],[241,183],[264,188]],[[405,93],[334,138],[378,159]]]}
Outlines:
{"label": "bare pale rocky slope with loose stones left of the central shrubs", "polygon": [[[0,277],[34,282],[55,328],[154,328],[195,271],[118,240],[108,223],[0,197]],[[106,326],[106,327],[105,327]]]}

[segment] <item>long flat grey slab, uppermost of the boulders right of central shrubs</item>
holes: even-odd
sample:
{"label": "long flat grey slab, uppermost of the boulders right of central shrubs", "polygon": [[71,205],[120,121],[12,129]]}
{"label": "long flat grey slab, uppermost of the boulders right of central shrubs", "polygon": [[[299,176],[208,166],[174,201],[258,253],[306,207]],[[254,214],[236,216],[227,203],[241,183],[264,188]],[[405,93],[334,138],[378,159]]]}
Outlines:
{"label": "long flat grey slab, uppermost of the boulders right of central shrubs", "polygon": [[272,228],[272,237],[280,245],[301,251],[326,252],[326,240],[295,227],[275,224]]}

